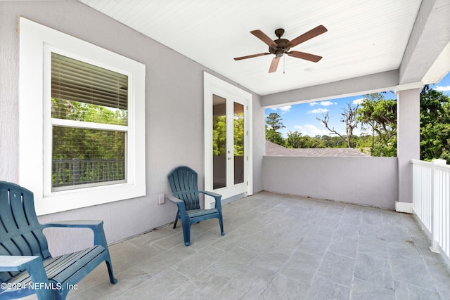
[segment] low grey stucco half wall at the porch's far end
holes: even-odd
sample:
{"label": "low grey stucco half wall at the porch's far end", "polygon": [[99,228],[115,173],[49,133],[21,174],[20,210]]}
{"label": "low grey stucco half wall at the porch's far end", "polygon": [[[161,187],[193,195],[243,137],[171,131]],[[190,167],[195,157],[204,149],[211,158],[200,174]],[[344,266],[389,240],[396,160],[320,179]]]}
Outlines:
{"label": "low grey stucco half wall at the porch's far end", "polygon": [[264,190],[394,209],[397,157],[264,157]]}

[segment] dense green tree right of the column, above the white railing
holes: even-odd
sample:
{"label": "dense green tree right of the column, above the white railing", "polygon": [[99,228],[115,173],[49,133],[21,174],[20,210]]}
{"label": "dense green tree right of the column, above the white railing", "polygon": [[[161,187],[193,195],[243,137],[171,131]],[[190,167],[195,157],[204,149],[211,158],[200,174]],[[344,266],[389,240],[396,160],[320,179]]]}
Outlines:
{"label": "dense green tree right of the column, above the white railing", "polygon": [[450,161],[450,97],[424,86],[420,91],[420,159]]}

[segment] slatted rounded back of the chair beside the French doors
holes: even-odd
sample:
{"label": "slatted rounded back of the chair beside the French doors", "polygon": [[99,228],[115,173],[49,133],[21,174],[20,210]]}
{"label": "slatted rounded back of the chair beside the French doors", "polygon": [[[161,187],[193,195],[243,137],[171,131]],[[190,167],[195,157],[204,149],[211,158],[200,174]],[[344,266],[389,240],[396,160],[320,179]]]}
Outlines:
{"label": "slatted rounded back of the chair beside the French doors", "polygon": [[200,209],[197,172],[182,166],[173,169],[168,177],[172,194],[184,201],[186,210]]}

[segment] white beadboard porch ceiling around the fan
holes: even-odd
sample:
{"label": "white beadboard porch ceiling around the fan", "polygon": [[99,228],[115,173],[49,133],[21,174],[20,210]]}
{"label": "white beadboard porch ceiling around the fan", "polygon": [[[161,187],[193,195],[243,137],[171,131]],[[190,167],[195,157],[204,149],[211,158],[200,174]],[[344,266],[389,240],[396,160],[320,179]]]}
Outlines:
{"label": "white beadboard porch ceiling around the fan", "polygon": [[[159,41],[236,83],[267,95],[326,84],[400,67],[421,0],[79,0]],[[272,39],[285,29],[292,40],[324,25],[328,32],[292,50],[323,56],[319,63],[273,56],[250,34]]]}

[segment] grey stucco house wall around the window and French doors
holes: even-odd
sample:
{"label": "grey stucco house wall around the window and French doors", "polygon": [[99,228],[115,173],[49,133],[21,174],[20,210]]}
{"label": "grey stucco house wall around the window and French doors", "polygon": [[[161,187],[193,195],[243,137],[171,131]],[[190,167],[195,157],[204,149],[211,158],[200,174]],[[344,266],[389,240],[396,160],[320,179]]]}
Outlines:
{"label": "grey stucco house wall around the window and French doors", "polygon": [[[203,71],[224,78],[78,1],[0,1],[0,180],[19,178],[18,16],[146,65],[146,197],[41,216],[40,221],[102,219],[108,242],[173,221],[176,207],[158,205],[158,194],[169,193],[166,176],[179,164],[196,169],[203,187]],[[264,141],[264,110],[259,96],[254,94],[253,100],[254,128],[262,127],[253,135],[257,149]],[[261,150],[254,155],[257,173],[262,169]],[[254,192],[259,190],[262,176],[256,174]],[[86,231],[49,231],[53,254],[91,242],[84,238],[89,236]]]}

